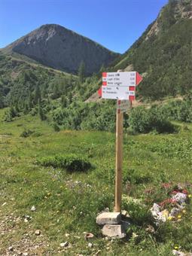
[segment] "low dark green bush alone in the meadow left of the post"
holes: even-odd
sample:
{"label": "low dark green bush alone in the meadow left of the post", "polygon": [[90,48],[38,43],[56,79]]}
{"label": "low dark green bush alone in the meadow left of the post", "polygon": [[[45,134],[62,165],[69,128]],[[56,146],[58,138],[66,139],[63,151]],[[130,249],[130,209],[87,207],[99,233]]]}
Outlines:
{"label": "low dark green bush alone in the meadow left of the post", "polygon": [[41,166],[53,166],[54,168],[66,169],[69,172],[87,171],[91,168],[90,162],[82,156],[76,154],[56,155],[55,157],[43,157],[37,161]]}

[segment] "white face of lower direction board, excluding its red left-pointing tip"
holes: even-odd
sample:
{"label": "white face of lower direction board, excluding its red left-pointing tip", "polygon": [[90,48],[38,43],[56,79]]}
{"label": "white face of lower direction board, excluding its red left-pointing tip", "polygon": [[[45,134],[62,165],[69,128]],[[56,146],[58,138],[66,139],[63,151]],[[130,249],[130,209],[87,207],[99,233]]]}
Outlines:
{"label": "white face of lower direction board, excluding its red left-pointing tip", "polygon": [[129,96],[135,96],[135,91],[130,91],[129,87],[102,86],[103,99],[129,99]]}

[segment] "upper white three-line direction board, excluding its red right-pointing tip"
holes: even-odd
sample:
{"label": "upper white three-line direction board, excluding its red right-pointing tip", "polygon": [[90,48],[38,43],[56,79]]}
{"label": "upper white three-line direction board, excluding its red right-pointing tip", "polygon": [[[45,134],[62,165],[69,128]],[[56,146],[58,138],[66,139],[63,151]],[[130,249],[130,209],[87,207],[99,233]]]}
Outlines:
{"label": "upper white three-line direction board, excluding its red right-pointing tip", "polygon": [[109,87],[136,86],[136,72],[102,73],[102,85],[106,85]]}

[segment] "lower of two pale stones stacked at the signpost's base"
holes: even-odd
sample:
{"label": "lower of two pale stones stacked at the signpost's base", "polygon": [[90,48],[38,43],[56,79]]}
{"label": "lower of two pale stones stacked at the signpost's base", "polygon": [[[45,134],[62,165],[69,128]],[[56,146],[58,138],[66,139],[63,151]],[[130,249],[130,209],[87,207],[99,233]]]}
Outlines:
{"label": "lower of two pale stones stacked at the signpost's base", "polygon": [[102,234],[104,236],[113,237],[117,239],[126,236],[126,233],[124,232],[122,225],[106,224],[104,227],[102,227]]}

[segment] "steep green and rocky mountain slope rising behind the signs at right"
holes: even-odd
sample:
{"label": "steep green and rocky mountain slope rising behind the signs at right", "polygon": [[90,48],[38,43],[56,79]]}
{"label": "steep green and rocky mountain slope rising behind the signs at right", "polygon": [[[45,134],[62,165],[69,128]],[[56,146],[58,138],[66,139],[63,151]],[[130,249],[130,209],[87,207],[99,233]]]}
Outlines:
{"label": "steep green and rocky mountain slope rising behind the signs at right", "polygon": [[137,70],[142,98],[186,94],[192,89],[192,0],[169,0],[143,35],[110,70]]}

